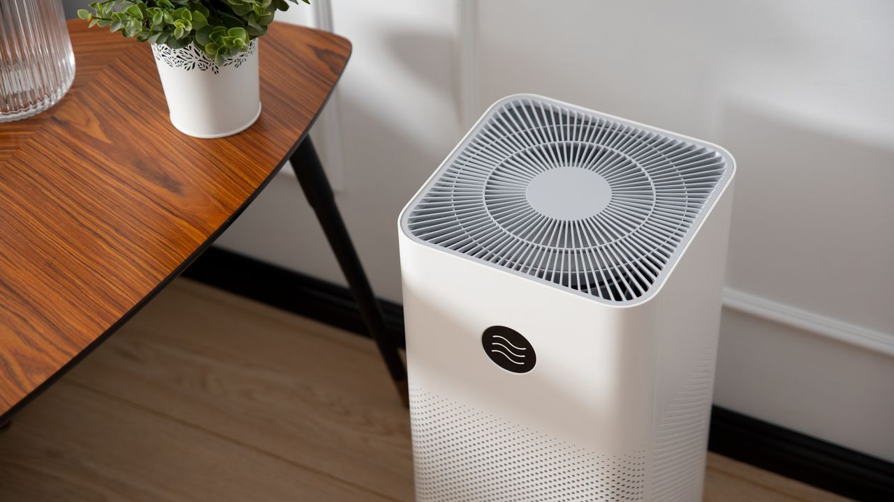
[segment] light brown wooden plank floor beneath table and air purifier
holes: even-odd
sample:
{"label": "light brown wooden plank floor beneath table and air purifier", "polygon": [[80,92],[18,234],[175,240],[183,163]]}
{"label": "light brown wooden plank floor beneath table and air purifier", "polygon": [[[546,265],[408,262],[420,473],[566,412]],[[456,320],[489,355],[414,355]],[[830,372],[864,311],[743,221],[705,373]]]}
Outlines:
{"label": "light brown wooden plank floor beneath table and air purifier", "polygon": [[[0,501],[410,501],[371,341],[177,280],[0,432]],[[710,455],[705,500],[844,500]]]}

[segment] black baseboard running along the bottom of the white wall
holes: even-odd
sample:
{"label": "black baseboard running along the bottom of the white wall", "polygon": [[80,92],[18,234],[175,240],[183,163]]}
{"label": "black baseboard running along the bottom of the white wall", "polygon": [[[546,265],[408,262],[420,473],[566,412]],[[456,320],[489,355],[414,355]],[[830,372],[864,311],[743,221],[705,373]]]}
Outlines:
{"label": "black baseboard running along the bottom of the white wall", "polygon": [[[325,280],[219,247],[210,247],[183,276],[366,335],[350,291]],[[404,347],[403,308],[381,303],[388,329]],[[894,464],[719,406],[713,407],[708,449],[849,498],[894,500]]]}

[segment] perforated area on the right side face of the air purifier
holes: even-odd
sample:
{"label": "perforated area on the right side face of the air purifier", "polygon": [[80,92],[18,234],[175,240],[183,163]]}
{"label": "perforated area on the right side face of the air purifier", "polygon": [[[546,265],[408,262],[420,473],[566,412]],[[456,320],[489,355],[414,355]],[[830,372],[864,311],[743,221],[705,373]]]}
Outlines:
{"label": "perforated area on the right side face of the air purifier", "polygon": [[655,431],[654,502],[699,500],[707,448],[714,347],[692,368]]}

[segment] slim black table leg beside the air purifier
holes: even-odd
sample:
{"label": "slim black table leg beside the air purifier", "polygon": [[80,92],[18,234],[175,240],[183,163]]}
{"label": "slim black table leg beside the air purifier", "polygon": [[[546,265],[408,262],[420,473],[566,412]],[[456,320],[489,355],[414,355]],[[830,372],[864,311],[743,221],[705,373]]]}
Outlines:
{"label": "slim black table leg beside the air purifier", "polygon": [[400,393],[401,402],[404,406],[408,406],[407,371],[403,367],[403,361],[394,339],[385,328],[382,309],[375,299],[366,272],[363,272],[360,257],[350,241],[348,229],[345,228],[342,221],[342,214],[339,213],[338,206],[335,205],[333,189],[329,185],[329,179],[326,178],[323,165],[320,163],[319,157],[316,156],[316,149],[309,137],[301,142],[289,160],[292,169],[298,176],[305,197],[308,197],[308,202],[314,208],[316,219],[319,220],[326,238],[329,239],[329,245],[333,248],[335,257],[342,267],[345,279],[348,280],[350,291],[360,307],[363,322],[366,323],[369,334],[375,339],[375,345],[378,346],[385,365],[388,366],[388,372],[391,373],[392,380]]}

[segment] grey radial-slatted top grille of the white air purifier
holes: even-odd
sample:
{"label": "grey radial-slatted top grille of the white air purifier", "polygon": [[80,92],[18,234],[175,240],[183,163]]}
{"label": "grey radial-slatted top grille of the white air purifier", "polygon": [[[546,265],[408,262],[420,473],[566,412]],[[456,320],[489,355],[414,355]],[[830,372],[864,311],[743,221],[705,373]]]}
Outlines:
{"label": "grey radial-slatted top grille of the white air purifier", "polygon": [[606,303],[656,289],[733,161],[542,96],[493,105],[404,210],[410,238]]}

